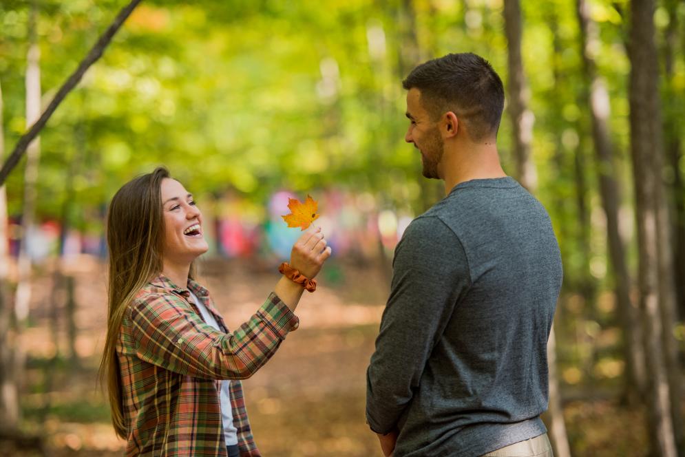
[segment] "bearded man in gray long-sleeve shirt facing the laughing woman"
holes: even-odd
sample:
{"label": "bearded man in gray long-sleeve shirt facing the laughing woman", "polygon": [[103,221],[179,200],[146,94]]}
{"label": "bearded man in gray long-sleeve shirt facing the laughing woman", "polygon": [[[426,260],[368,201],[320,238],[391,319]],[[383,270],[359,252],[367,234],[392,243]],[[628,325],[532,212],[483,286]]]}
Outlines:
{"label": "bearded man in gray long-sleeve shirt facing the laughing woman", "polygon": [[547,211],[500,166],[502,81],[448,54],[403,86],[405,140],[447,196],[395,250],[367,421],[386,456],[551,457],[540,413],[561,259]]}

